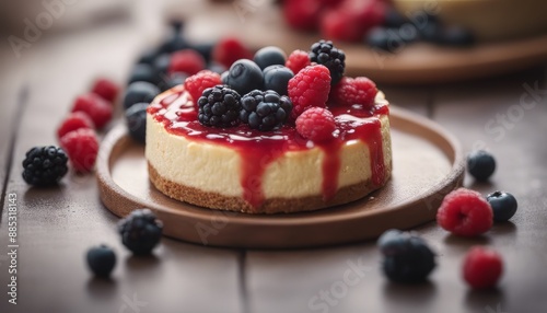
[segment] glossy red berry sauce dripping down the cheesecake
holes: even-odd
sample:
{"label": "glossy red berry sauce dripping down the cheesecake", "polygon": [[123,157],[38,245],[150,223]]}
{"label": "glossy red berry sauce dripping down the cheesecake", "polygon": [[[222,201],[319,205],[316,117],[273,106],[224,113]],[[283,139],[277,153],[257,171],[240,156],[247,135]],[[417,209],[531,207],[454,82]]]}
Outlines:
{"label": "glossy red berry sauce dripping down the cheesecake", "polygon": [[387,102],[379,102],[373,106],[331,105],[329,109],[335,117],[337,128],[330,140],[321,142],[303,138],[294,126],[289,125],[272,131],[251,129],[247,125],[232,128],[203,126],[198,121],[191,96],[184,86],[176,86],[171,93],[156,98],[149,106],[148,113],[173,135],[235,149],[243,159],[241,173],[243,198],[258,208],[265,198],[260,177],[268,164],[289,151],[303,151],[314,147],[325,151],[323,160],[325,201],[333,199],[338,189],[339,155],[341,147],[349,140],[361,140],[369,146],[372,182],[376,186],[384,184],[384,151],[379,117],[389,113]]}

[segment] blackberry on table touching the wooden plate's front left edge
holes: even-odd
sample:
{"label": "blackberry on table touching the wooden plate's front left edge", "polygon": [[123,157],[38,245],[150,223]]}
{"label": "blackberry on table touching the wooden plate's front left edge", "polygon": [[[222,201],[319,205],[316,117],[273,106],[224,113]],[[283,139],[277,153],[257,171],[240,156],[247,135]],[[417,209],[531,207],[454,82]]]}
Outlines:
{"label": "blackberry on table touching the wooden plate's front left edge", "polygon": [[132,211],[119,221],[121,243],[136,255],[146,255],[160,242],[163,223],[149,209]]}

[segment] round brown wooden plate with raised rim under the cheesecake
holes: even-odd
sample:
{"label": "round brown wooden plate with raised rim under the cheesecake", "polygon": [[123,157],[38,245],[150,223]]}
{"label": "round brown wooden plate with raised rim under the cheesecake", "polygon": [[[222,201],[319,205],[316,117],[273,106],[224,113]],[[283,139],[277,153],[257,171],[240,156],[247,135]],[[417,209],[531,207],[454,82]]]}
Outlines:
{"label": "round brown wooden plate with raised rim under the cheesecake", "polygon": [[[392,179],[369,197],[339,207],[293,215],[247,215],[173,200],[148,178],[144,148],[118,125],[103,140],[96,164],[103,204],[124,217],[150,208],[164,234],[203,245],[246,248],[323,246],[372,239],[434,219],[443,196],[461,186],[463,153],[440,126],[392,106]],[[184,164],[181,164],[184,166]]]}

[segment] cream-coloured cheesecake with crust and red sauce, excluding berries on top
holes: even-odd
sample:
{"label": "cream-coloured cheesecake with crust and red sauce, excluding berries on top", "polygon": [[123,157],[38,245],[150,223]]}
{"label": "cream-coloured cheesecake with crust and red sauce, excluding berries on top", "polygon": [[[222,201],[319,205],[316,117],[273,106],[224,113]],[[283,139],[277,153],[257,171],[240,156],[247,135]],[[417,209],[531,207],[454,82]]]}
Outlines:
{"label": "cream-coloured cheesecake with crust and red sauce, excluding berries on top", "polygon": [[151,183],[166,196],[210,209],[247,213],[317,210],[363,198],[392,172],[389,108],[328,107],[337,129],[314,142],[294,126],[258,131],[201,125],[183,85],[160,94],[147,113]]}

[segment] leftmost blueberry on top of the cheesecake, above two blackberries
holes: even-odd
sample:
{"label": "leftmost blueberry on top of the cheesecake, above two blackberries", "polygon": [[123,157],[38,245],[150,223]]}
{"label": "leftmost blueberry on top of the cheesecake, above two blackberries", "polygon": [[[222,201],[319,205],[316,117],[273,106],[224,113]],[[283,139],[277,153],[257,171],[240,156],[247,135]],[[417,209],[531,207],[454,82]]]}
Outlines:
{"label": "leftmost blueberry on top of the cheesecake, above two blackberries", "polygon": [[241,59],[230,67],[228,82],[240,94],[246,94],[255,89],[261,90],[264,86],[263,71],[252,60]]}

